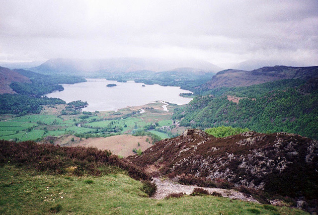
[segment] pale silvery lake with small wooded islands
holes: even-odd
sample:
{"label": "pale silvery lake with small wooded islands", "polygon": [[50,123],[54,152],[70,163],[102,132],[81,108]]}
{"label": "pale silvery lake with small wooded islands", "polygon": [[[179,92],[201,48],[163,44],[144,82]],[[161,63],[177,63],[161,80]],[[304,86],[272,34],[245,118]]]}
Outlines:
{"label": "pale silvery lake with small wooded islands", "polygon": [[[106,79],[87,78],[87,82],[62,84],[63,91],[46,94],[48,97],[60,98],[66,102],[82,100],[88,106],[83,111],[117,111],[127,106],[140,106],[156,101],[166,101],[178,105],[189,103],[192,98],[184,98],[179,93],[190,91],[175,86],[158,84],[142,86],[134,81],[117,82]],[[107,84],[116,84],[106,87]]]}

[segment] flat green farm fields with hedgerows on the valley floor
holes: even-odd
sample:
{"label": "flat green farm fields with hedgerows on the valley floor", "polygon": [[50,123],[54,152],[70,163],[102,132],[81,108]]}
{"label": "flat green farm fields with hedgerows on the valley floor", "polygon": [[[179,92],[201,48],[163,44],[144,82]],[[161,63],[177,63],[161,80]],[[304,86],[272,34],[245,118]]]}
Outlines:
{"label": "flat green farm fields with hedgerows on the valley floor", "polygon": [[[82,112],[76,115],[62,115],[66,105],[47,105],[40,114],[1,115],[0,139],[41,142],[46,137],[72,135],[75,140],[77,138],[91,140],[113,135],[135,134],[140,131],[151,132],[165,139],[181,134],[182,132],[171,132],[175,128],[171,117],[177,106],[168,105],[167,112],[163,111],[162,105],[164,104],[157,102],[127,107],[117,112]],[[61,143],[69,144],[63,141]]]}

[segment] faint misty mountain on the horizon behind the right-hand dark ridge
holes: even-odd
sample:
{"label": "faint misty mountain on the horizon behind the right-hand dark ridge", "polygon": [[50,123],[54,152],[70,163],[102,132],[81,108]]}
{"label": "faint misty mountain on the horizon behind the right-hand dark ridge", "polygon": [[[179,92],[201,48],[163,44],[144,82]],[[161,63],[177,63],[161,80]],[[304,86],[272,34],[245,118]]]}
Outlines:
{"label": "faint misty mountain on the horizon behind the right-hand dark ridge", "polygon": [[252,59],[252,60],[247,60],[239,64],[233,65],[231,68],[235,70],[251,71],[251,70],[256,70],[262,67],[274,67],[276,65],[290,65],[290,66],[297,66],[297,67],[305,66],[305,65],[299,65],[297,62],[288,61],[288,60]]}

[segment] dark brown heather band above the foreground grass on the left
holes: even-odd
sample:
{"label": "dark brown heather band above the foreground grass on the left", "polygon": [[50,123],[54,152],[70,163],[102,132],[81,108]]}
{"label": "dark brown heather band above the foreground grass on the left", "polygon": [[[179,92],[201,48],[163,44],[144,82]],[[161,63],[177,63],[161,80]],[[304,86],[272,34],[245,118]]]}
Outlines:
{"label": "dark brown heather band above the foreground grass on the left", "polygon": [[108,150],[93,147],[60,147],[32,141],[14,143],[0,140],[0,164],[15,164],[53,174],[103,175],[123,169],[137,180],[150,176],[128,160]]}

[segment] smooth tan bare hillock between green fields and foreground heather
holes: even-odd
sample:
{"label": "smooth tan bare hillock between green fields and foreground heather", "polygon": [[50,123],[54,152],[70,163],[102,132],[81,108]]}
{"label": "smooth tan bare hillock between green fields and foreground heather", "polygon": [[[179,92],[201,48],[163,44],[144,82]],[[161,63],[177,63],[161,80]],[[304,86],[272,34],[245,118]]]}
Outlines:
{"label": "smooth tan bare hillock between green fields and foreground heather", "polygon": [[[113,154],[121,155],[127,157],[129,155],[134,155],[133,148],[146,150],[151,143],[146,142],[146,140],[152,142],[150,137],[136,137],[132,135],[117,135],[108,138],[88,138],[82,139],[80,142],[72,144],[73,146],[93,146],[98,149],[107,149],[112,151]],[[138,146],[139,143],[139,146]]]}

